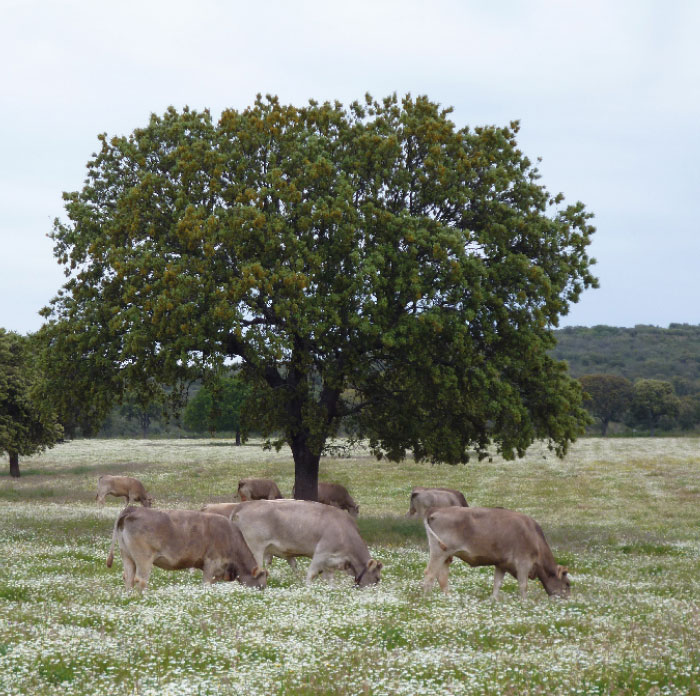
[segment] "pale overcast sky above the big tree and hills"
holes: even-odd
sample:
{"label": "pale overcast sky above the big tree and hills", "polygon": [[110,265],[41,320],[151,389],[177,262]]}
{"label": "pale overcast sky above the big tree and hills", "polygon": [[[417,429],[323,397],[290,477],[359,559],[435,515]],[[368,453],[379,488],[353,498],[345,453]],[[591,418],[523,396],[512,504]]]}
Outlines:
{"label": "pale overcast sky above the big tree and hills", "polygon": [[601,287],[562,326],[700,324],[696,0],[0,0],[0,18],[0,327],[38,329],[64,282],[46,235],[99,133],[258,92],[519,119],[543,183],[595,214]]}

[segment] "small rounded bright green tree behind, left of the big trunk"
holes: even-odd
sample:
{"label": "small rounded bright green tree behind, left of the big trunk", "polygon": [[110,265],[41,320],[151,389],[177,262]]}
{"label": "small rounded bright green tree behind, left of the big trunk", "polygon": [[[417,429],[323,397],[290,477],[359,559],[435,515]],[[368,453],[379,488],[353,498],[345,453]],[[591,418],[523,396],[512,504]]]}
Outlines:
{"label": "small rounded bright green tree behind, left of the big trunk", "polygon": [[204,385],[185,407],[184,425],[197,433],[235,432],[241,444],[242,411],[248,388],[238,377],[224,377]]}

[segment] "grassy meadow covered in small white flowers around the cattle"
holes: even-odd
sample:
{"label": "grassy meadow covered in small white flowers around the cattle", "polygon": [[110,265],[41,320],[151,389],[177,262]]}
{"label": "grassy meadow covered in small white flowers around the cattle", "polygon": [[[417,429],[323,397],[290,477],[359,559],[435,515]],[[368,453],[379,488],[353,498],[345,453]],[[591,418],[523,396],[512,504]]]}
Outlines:
{"label": "grassy meadow covered in small white flowers around the cattle", "polygon": [[[143,596],[106,568],[120,500],[97,477],[140,478],[162,508],[231,500],[238,478],[292,486],[289,451],[221,440],[62,444],[0,475],[0,693],[700,694],[700,442],[584,439],[564,460],[533,448],[448,467],[324,459],[324,480],[360,504],[384,563],[380,585],[303,582],[276,561],[268,588],[204,587],[199,571],[154,569]],[[404,517],[413,485],[526,512],[569,566],[572,596],[455,560],[450,593],[421,590],[422,525]]]}

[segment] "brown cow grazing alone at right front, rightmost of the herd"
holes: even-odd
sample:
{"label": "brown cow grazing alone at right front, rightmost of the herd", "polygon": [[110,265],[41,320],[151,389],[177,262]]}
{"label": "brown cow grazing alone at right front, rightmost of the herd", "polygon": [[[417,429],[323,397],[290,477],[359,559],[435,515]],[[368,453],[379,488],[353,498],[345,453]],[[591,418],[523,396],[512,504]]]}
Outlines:
{"label": "brown cow grazing alone at right front, rightmost of the herd", "polygon": [[496,566],[493,598],[506,573],[517,578],[525,599],[527,580],[538,578],[549,595],[568,597],[568,569],[557,565],[542,528],[532,517],[503,508],[447,507],[428,510],[423,523],[428,534],[430,561],[424,589],[437,581],[447,592],[447,574],[453,556],[471,566]]}

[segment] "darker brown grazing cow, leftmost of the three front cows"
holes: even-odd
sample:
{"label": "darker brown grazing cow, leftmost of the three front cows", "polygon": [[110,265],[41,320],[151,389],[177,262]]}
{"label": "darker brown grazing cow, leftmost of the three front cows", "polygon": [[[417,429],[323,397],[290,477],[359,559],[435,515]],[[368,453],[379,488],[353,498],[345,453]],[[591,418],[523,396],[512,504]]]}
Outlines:
{"label": "darker brown grazing cow, leftmost of the three front cows", "polygon": [[114,523],[108,568],[115,541],[127,589],[145,589],[154,565],[165,570],[199,568],[205,583],[238,580],[259,588],[267,584],[267,571],[256,565],[240,530],[221,515],[127,507]]}

